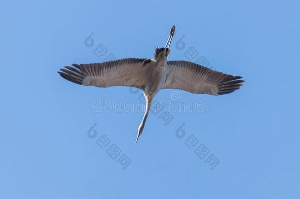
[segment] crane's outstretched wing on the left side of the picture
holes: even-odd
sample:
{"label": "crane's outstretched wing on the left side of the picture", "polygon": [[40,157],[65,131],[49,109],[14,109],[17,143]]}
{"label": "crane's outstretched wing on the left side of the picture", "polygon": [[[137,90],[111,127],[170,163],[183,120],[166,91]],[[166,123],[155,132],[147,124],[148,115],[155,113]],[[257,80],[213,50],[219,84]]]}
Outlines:
{"label": "crane's outstretched wing on the left side of the picture", "polygon": [[58,73],[71,82],[97,87],[130,86],[142,89],[149,59],[126,58],[91,64],[72,64]]}

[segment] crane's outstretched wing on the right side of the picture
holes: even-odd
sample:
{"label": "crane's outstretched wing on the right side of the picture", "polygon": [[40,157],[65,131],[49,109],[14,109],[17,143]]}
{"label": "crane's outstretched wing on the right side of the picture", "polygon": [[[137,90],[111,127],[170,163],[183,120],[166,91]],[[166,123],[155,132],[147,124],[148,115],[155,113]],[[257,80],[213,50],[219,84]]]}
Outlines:
{"label": "crane's outstretched wing on the right side of the picture", "polygon": [[197,94],[223,95],[240,88],[244,80],[189,61],[168,61],[162,89],[173,88]]}

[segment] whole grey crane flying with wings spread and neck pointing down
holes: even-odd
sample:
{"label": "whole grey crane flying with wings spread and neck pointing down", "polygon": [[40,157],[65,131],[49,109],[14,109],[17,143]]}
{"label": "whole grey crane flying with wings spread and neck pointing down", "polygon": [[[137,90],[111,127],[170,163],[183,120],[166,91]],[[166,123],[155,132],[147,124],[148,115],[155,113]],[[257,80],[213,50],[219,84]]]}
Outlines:
{"label": "whole grey crane flying with wings spread and neck pointing down", "polygon": [[180,89],[195,94],[224,95],[240,88],[240,76],[211,70],[189,61],[167,61],[175,25],[164,48],[156,48],[154,59],[124,58],[103,63],[72,64],[58,73],[66,80],[101,88],[130,86],[143,91],[145,114],[136,141],[143,132],[153,98],[161,89]]}

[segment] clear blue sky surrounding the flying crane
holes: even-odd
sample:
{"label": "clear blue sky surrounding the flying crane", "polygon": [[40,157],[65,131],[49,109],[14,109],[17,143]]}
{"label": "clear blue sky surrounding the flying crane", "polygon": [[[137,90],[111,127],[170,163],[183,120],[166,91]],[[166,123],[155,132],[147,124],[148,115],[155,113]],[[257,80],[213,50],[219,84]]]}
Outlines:
{"label": "clear blue sky surrounding the flying crane", "polygon": [[[299,10],[296,0],[1,1],[0,198],[299,199]],[[224,96],[178,91],[203,112],[171,110],[168,125],[150,114],[137,144],[142,111],[93,105],[101,97],[136,104],[141,93],[57,74],[110,53],[152,58],[173,24],[170,60],[188,60],[194,47],[209,67],[246,82]],[[185,47],[176,48],[182,36]],[[93,52],[100,44],[104,57]],[[202,159],[199,146],[209,150]],[[131,161],[124,170],[122,155]],[[219,161],[212,170],[209,157]]]}

